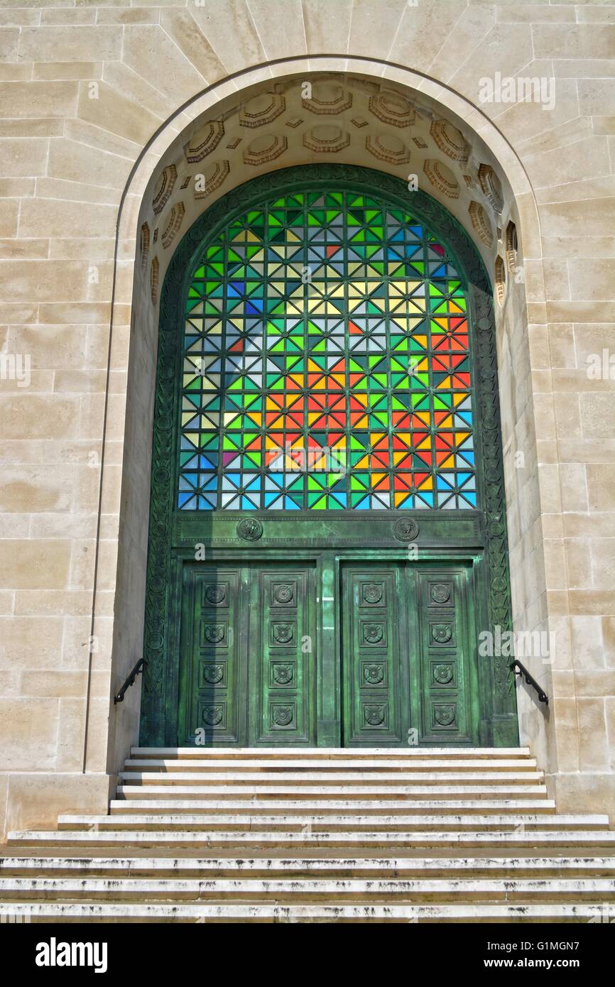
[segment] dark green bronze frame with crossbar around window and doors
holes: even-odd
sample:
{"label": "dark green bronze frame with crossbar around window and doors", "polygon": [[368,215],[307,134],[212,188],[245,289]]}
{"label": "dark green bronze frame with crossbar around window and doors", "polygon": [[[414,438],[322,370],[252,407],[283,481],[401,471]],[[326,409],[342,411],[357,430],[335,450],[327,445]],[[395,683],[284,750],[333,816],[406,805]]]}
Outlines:
{"label": "dark green bronze frame with crossbar around window and doors", "polygon": [[[152,438],[141,744],[164,746],[176,743],[180,644],[178,616],[181,609],[179,569],[182,559],[194,558],[196,544],[204,545],[207,553],[221,552],[226,559],[237,558],[237,553],[239,557],[242,553],[255,557],[254,544],[247,548],[246,542],[241,541],[242,535],[238,537],[240,526],[249,519],[246,514],[227,511],[223,518],[216,515],[214,519],[204,516],[206,512],[190,512],[191,517],[187,517],[189,512],[185,512],[184,517],[179,517],[180,512],[175,511],[183,310],[193,265],[203,241],[215,236],[223,225],[255,201],[266,195],[279,196],[298,188],[327,190],[333,184],[348,190],[381,195],[416,216],[446,246],[464,281],[468,297],[481,509],[370,512],[368,527],[370,537],[373,536],[375,542],[373,547],[400,551],[400,541],[408,543],[416,540],[419,557],[425,561],[442,558],[445,554],[452,561],[458,552],[470,553],[477,564],[473,566],[477,629],[489,630],[494,636],[497,627],[502,633],[511,630],[493,292],[475,245],[457,220],[435,199],[424,191],[409,192],[400,179],[382,172],[346,165],[309,165],[270,173],[222,196],[194,221],[178,246],[163,284]],[[331,540],[326,538],[325,544],[319,545],[319,539],[323,541],[323,533],[318,530],[322,527],[318,522],[323,520],[322,515],[326,512],[319,512],[321,516],[318,518],[299,518],[297,515],[300,513],[293,512],[292,523],[283,512],[269,511],[266,518],[260,514],[259,552],[267,548],[279,550],[283,546],[296,554],[299,551],[325,549],[327,543],[331,545]],[[356,516],[352,511],[342,513],[346,517],[340,517],[338,513],[343,536],[340,547],[346,544],[349,548],[352,541],[364,543],[365,538],[357,540],[352,539],[349,533],[344,534],[345,530],[349,532],[356,524]],[[400,533],[403,519],[406,519],[406,527],[402,527]],[[309,522],[311,530],[304,531],[302,546],[293,547],[298,521],[301,527]],[[415,527],[416,539],[409,537]],[[458,537],[459,531],[461,537]],[[452,554],[447,548],[451,541],[455,545]],[[505,655],[481,659],[479,690],[480,743],[514,746],[518,742],[516,696]],[[334,721],[324,718],[323,727],[328,736],[327,745],[336,746]]]}

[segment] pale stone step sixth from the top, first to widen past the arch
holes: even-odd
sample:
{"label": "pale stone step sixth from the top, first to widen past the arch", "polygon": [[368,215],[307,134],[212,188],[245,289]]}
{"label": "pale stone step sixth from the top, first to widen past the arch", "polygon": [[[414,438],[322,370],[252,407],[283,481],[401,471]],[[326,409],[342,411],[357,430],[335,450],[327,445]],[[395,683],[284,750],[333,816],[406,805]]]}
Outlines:
{"label": "pale stone step sixth from the top, first to widen past the arch", "polygon": [[154,814],[154,815],[60,815],[58,829],[64,830],[176,830],[191,832],[218,830],[411,830],[411,829],[502,829],[510,831],[521,827],[543,829],[608,829],[607,815],[318,815],[301,813],[264,817],[259,811],[252,815],[203,813]]}

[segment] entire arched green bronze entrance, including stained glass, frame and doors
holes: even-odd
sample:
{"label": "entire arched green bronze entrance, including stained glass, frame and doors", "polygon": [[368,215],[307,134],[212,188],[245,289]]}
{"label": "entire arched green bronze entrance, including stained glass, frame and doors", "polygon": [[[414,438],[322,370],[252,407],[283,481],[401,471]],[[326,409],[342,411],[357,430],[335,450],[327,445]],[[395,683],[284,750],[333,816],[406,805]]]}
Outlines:
{"label": "entire arched green bronze entrance, including stained glass, frame and doors", "polygon": [[141,742],[511,745],[491,286],[428,195],[286,169],[161,295]]}

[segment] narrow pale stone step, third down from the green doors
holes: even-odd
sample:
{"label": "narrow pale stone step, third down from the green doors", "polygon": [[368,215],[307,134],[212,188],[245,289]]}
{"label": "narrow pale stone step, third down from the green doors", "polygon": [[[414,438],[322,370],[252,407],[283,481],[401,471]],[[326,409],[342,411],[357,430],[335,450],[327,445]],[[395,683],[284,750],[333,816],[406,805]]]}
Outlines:
{"label": "narrow pale stone step, third down from the green doors", "polygon": [[[120,771],[118,779],[129,785],[332,785],[337,788],[346,785],[356,785],[355,774],[347,771],[305,771],[305,772],[270,772],[270,771],[237,771],[237,772],[208,772],[208,771]],[[417,771],[365,772],[360,775],[360,784],[369,785],[452,785],[491,784],[528,785],[543,781],[542,771]]]}

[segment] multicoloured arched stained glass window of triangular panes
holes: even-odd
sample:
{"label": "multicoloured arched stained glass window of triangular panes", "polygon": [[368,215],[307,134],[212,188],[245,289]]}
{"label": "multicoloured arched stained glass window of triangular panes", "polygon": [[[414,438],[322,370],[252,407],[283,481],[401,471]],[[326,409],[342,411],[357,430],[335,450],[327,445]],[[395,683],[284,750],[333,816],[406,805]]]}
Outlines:
{"label": "multicoloured arched stained glass window of triangular panes", "polygon": [[476,508],[466,295],[404,209],[255,205],[203,247],[186,317],[179,508]]}

